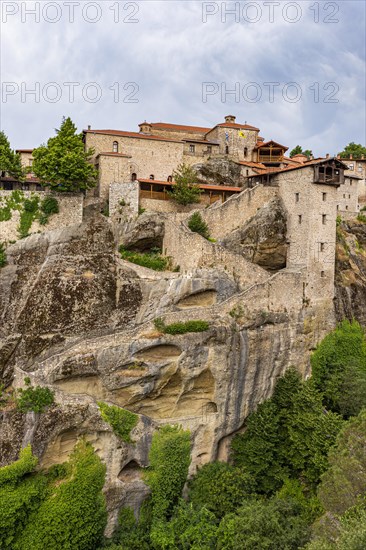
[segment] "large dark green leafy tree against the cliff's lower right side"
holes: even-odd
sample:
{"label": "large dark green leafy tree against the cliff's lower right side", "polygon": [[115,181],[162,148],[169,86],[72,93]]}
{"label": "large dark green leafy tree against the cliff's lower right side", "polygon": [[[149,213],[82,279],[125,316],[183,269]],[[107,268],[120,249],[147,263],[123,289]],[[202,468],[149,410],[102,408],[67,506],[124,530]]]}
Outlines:
{"label": "large dark green leafy tree against the cliff's lower right side", "polygon": [[248,417],[246,431],[234,437],[234,463],[255,478],[259,492],[273,493],[288,477],[314,488],[342,424],[340,416],[324,410],[313,382],[302,382],[290,369],[273,397]]}

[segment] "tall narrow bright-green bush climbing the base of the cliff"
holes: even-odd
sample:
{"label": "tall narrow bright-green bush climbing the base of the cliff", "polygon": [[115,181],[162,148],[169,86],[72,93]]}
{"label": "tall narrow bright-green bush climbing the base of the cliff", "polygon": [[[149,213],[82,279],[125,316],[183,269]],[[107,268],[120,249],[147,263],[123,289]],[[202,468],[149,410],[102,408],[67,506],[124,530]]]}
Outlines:
{"label": "tall narrow bright-green bush climbing the base of the cliff", "polygon": [[163,426],[155,432],[145,479],[151,488],[153,523],[164,522],[181,497],[190,459],[190,433],[180,426]]}

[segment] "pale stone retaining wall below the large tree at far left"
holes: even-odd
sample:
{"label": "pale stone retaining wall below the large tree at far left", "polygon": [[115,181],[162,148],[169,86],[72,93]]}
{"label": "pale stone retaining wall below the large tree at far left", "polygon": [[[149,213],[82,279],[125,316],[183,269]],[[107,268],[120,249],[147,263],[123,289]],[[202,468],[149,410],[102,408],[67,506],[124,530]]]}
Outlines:
{"label": "pale stone retaining wall below the large tree at far left", "polygon": [[[5,201],[1,199],[10,197],[13,191],[0,191],[0,206],[5,204]],[[22,191],[24,198],[31,198],[39,196],[40,200],[48,196],[47,191]],[[81,223],[83,221],[83,203],[84,196],[82,193],[52,193],[59,204],[59,213],[53,214],[49,217],[46,225],[41,225],[35,220],[31,226],[30,234],[32,233],[44,233],[52,229],[59,229],[69,225]],[[19,225],[20,213],[18,210],[12,210],[12,217],[8,221],[0,222],[0,241],[10,242],[19,239],[17,227]]]}

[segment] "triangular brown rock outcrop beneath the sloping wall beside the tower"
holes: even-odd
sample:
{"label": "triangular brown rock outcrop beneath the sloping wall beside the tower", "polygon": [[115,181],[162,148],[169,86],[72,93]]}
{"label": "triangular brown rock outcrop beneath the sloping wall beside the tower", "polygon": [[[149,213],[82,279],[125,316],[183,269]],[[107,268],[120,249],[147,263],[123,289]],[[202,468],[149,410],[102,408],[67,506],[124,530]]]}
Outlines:
{"label": "triangular brown rock outcrop beneath the sloping wall beside the tower", "polygon": [[268,271],[286,267],[286,212],[275,197],[221,244]]}

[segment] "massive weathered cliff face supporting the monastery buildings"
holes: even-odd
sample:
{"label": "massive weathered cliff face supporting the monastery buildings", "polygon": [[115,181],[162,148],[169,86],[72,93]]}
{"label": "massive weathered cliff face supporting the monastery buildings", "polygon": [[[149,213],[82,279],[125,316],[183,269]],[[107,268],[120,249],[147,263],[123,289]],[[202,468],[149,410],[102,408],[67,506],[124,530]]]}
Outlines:
{"label": "massive weathered cliff face supporting the monastery buildings", "polygon": [[[251,261],[279,269],[286,222],[279,203],[270,208],[233,232],[225,246],[232,255],[244,249]],[[47,468],[65,461],[78,437],[86,437],[107,465],[110,534],[119,508],[137,512],[148,494],[142,471],[159,425],[190,430],[191,474],[210,460],[227,459],[231,436],[271,395],[276,379],[290,365],[309,371],[309,350],[334,320],[322,304],[309,306],[302,296],[292,305],[281,295],[273,298],[286,277],[302,288],[301,273],[283,279],[281,272],[269,273],[268,281],[254,277],[240,287],[225,265],[207,261],[202,267],[200,255],[195,265],[193,248],[203,250],[207,241],[186,230],[189,269],[151,271],[121,260],[117,248],[123,242],[144,249],[161,239],[167,224],[158,215],[116,229],[97,212],[89,214],[82,225],[33,235],[7,250],[8,265],[0,270],[2,381],[17,388],[29,376],[52,388],[55,404],[37,415],[10,406],[0,411],[0,464],[31,443]],[[209,329],[161,334],[156,317],[167,324],[203,319]],[[102,420],[98,401],[138,415],[133,444]]]}

